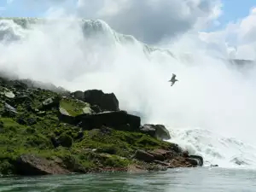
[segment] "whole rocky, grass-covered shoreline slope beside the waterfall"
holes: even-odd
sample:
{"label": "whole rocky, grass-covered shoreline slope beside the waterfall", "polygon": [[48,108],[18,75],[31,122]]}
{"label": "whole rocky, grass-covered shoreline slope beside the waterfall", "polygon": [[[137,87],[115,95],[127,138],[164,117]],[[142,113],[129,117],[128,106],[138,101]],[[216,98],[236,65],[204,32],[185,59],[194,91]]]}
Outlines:
{"label": "whole rocky, grass-covered shoreline slope beside the waterfall", "polygon": [[141,125],[102,90],[44,90],[0,79],[0,173],[46,175],[165,171],[203,166],[168,143],[164,125]]}

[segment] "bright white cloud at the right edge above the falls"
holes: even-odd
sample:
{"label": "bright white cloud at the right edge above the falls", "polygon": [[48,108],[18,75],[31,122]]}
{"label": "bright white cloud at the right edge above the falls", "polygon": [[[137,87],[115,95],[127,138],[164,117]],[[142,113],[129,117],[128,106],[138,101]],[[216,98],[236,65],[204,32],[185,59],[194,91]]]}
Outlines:
{"label": "bright white cloud at the right edge above the falls", "polygon": [[199,38],[207,46],[213,45],[222,55],[236,59],[256,59],[256,8],[240,20],[228,24],[217,32],[200,32]]}

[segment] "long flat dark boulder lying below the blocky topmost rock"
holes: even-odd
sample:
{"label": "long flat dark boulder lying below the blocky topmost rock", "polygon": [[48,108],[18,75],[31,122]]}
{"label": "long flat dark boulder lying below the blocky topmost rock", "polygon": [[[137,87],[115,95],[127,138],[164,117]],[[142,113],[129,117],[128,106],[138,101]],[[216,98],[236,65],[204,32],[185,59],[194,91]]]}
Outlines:
{"label": "long flat dark boulder lying below the blocky topmost rock", "polygon": [[75,119],[84,130],[101,128],[102,125],[105,125],[117,130],[139,131],[141,125],[140,117],[126,113],[125,111],[80,114]]}

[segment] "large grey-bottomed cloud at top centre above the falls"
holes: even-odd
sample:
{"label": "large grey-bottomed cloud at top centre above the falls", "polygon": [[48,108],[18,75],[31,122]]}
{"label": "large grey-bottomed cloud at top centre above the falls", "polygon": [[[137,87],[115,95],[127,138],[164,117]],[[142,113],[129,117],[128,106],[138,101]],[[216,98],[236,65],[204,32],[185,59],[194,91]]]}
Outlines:
{"label": "large grey-bottomed cloud at top centre above the falls", "polygon": [[106,20],[149,44],[201,28],[221,14],[219,0],[78,0],[77,5],[79,15]]}

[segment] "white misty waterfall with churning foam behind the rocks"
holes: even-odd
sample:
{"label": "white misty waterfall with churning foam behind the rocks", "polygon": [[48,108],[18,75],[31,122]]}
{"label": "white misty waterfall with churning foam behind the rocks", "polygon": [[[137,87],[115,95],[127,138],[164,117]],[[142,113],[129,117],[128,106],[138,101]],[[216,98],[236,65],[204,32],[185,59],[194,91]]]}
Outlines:
{"label": "white misty waterfall with churning foam behind the rocks", "polygon": [[[253,65],[231,65],[193,37],[153,47],[102,20],[72,17],[2,19],[0,40],[5,74],[114,92],[120,108],[165,124],[171,141],[203,155],[206,166],[256,166]],[[172,73],[179,80],[173,87]]]}

